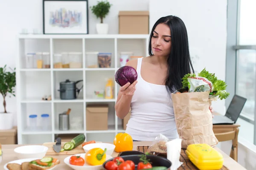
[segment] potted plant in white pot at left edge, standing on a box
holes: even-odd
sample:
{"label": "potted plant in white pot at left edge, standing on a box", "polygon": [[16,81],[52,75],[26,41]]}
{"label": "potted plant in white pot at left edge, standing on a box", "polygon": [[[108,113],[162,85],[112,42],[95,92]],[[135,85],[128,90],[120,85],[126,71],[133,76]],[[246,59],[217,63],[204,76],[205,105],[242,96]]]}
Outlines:
{"label": "potted plant in white pot at left edge, standing on a box", "polygon": [[[0,68],[0,94],[3,96],[3,109],[0,112],[0,130],[12,129],[13,113],[6,111],[6,97],[8,94],[15,96],[16,73],[15,69],[12,72],[6,71],[6,65]],[[10,96],[11,97],[11,96]]]}

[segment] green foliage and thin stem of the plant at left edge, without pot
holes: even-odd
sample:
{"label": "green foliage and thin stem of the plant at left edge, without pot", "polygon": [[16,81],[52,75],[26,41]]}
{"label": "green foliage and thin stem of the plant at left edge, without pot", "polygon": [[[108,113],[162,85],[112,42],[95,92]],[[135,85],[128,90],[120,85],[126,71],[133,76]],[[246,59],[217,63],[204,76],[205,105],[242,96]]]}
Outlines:
{"label": "green foliage and thin stem of the plant at left edge, without pot", "polygon": [[6,111],[6,96],[8,94],[12,94],[15,96],[15,88],[16,86],[16,72],[15,68],[12,72],[6,71],[6,65],[3,68],[0,68],[0,94],[3,96],[3,108],[4,113]]}

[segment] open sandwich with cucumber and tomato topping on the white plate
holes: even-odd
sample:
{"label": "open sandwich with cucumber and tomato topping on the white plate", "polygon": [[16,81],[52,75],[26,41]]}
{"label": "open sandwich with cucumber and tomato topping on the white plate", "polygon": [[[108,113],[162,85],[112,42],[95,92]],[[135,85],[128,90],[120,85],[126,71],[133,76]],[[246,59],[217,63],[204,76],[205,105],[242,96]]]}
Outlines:
{"label": "open sandwich with cucumber and tomato topping on the white plate", "polygon": [[29,162],[28,170],[47,170],[60,163],[60,160],[52,157],[44,157],[42,159],[36,159]]}

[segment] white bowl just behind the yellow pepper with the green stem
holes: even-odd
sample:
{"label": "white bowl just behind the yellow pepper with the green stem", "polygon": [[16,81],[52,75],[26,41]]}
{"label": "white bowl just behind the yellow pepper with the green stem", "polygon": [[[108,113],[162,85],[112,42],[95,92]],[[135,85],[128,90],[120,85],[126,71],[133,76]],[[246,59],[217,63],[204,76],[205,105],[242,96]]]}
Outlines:
{"label": "white bowl just behind the yellow pepper with the green stem", "polygon": [[87,153],[89,150],[96,148],[96,147],[99,147],[102,150],[105,150],[105,148],[107,148],[107,152],[106,152],[107,155],[112,155],[114,149],[116,148],[115,145],[109,144],[109,143],[92,143],[92,144],[84,145],[83,149],[84,149],[85,153]]}

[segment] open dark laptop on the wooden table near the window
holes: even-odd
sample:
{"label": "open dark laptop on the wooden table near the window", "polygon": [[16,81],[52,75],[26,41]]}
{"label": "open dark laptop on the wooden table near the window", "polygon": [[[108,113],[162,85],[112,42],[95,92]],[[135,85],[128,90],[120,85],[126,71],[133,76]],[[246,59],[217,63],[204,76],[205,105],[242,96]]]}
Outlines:
{"label": "open dark laptop on the wooden table near the window", "polygon": [[226,114],[223,115],[214,115],[212,118],[213,125],[230,125],[236,123],[239,115],[244,108],[246,98],[235,95],[233,96],[232,101],[230,102],[229,107],[227,108]]}

